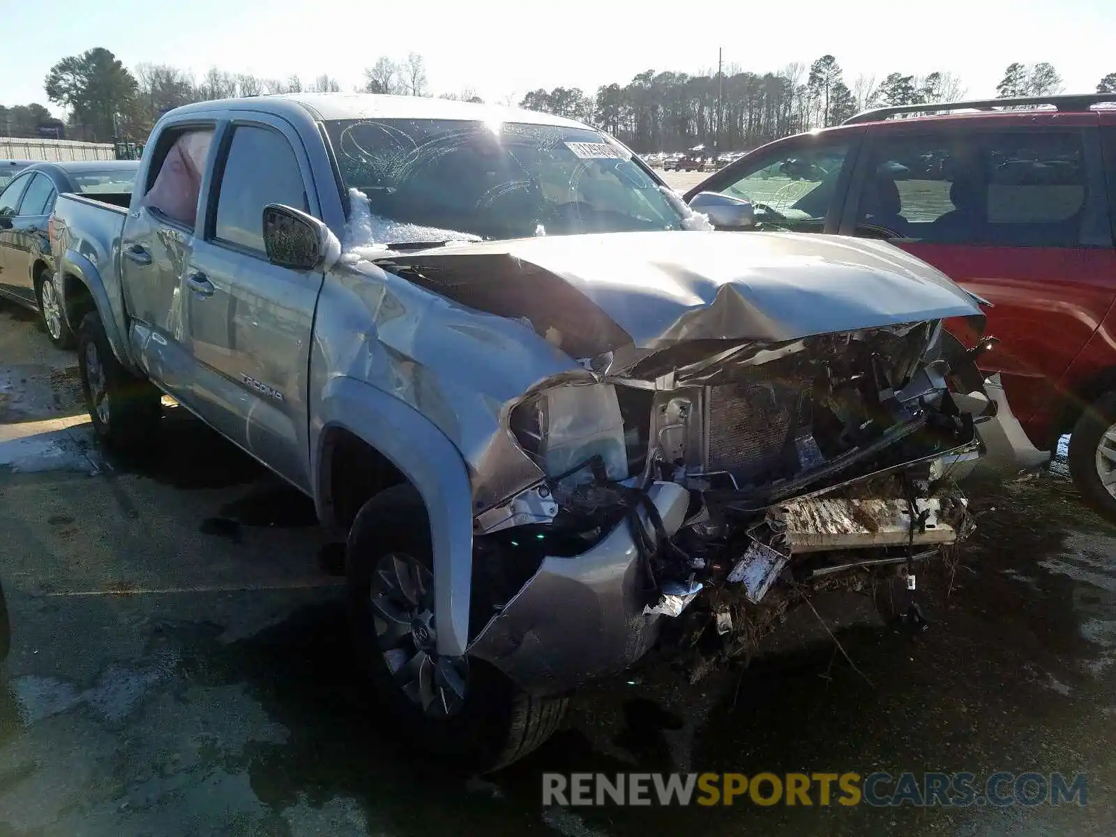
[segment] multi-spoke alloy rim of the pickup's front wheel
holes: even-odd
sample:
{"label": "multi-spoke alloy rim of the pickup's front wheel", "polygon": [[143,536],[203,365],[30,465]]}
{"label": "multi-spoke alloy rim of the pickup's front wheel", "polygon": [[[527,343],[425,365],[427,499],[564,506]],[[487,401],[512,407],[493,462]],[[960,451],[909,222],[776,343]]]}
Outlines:
{"label": "multi-spoke alloy rim of the pickup's front wheel", "polygon": [[395,685],[432,718],[449,718],[465,701],[469,665],[441,656],[434,625],[434,578],[410,555],[381,558],[372,578],[376,644]]}

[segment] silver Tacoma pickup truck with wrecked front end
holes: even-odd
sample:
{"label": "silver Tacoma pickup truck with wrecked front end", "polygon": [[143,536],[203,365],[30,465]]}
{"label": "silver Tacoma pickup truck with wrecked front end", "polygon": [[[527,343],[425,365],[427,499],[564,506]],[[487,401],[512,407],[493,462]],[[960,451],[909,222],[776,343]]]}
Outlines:
{"label": "silver Tacoma pickup truck with wrecked front end", "polygon": [[128,208],[64,195],[51,242],[97,434],[150,450],[167,393],[309,494],[383,705],[493,767],[586,681],[745,657],[972,528],[990,402],[942,324],[978,300],[713,229],[750,219],[569,119],[266,96],[166,114]]}

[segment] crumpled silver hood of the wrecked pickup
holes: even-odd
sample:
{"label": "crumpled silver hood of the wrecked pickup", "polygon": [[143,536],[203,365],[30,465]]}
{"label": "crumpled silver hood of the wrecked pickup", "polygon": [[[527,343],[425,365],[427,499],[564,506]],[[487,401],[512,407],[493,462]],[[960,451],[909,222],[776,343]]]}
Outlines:
{"label": "crumpled silver hood of the wrecked pickup", "polygon": [[970,294],[896,247],[816,233],[555,235],[453,244],[389,261],[450,273],[456,267],[473,277],[506,264],[528,283],[540,270],[551,273],[639,349],[695,339],[795,340],[981,315]]}

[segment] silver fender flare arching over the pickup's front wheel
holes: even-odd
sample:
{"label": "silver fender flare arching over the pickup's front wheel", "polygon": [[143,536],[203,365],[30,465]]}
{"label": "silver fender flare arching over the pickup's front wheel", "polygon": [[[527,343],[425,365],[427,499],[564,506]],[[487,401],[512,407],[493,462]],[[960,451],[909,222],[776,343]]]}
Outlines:
{"label": "silver fender flare arching over the pickup's front wheel", "polygon": [[315,497],[321,519],[327,496],[321,484],[323,449],[331,427],[344,427],[375,448],[419,490],[430,516],[434,551],[434,617],[437,652],[460,656],[469,641],[469,594],[473,573],[473,512],[469,469],[439,427],[382,389],[337,376],[318,404],[311,450]]}

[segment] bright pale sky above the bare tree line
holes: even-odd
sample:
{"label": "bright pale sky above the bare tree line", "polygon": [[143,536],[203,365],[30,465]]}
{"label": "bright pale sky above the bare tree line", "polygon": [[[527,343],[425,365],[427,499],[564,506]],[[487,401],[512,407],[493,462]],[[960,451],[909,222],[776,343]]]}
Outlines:
{"label": "bright pale sky above the bare tree line", "polygon": [[[0,0],[9,23],[28,8]],[[591,94],[647,69],[715,69],[719,48],[727,66],[757,73],[828,52],[850,86],[859,74],[949,70],[969,97],[993,96],[1011,61],[1050,61],[1067,93],[1093,92],[1116,71],[1114,0],[79,0],[55,7],[28,37],[7,36],[0,104],[39,102],[59,115],[44,79],[58,59],[93,47],[129,68],[171,64],[200,78],[217,66],[304,84],[328,73],[343,89],[381,55],[414,51],[433,93],[471,87],[488,102],[559,85]]]}

